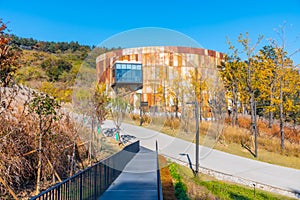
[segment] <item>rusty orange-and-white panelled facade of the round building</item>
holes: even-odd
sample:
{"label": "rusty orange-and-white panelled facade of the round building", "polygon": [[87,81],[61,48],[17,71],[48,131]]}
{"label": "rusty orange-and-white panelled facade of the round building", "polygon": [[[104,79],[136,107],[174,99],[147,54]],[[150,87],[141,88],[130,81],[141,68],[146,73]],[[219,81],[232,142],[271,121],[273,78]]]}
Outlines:
{"label": "rusty orange-and-white panelled facade of the round building", "polygon": [[150,46],[118,49],[100,55],[96,59],[97,80],[111,86],[112,66],[115,61],[138,61],[143,67],[143,100],[149,106],[161,103],[158,90],[167,91],[175,77],[188,78],[199,69],[205,76],[213,75],[224,55],[217,51],[176,46]]}

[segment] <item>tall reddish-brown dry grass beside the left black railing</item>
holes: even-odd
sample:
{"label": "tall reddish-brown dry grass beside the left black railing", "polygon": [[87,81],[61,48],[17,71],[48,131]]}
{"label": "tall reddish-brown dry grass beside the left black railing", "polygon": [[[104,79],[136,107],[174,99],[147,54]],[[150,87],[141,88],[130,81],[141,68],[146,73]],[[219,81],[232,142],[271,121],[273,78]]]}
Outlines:
{"label": "tall reddish-brown dry grass beside the left black railing", "polygon": [[[37,148],[39,124],[37,116],[28,112],[30,90],[18,88],[0,88],[0,176],[19,198],[28,199],[34,195],[37,176]],[[5,91],[4,91],[5,90]],[[5,102],[5,103],[3,103]],[[44,190],[57,181],[53,174],[57,172],[61,179],[69,177],[71,158],[75,149],[75,172],[89,165],[87,161],[87,143],[83,137],[89,130],[78,126],[67,113],[58,110],[61,119],[54,122],[51,131],[43,135],[43,157],[41,189]],[[116,142],[115,142],[116,143]],[[96,160],[110,154],[115,149],[114,141],[95,136],[93,150],[101,147],[101,155]],[[118,146],[117,144],[115,146]],[[51,167],[51,165],[53,168]],[[73,171],[74,174],[74,171]],[[7,187],[0,183],[0,199],[11,199]]]}

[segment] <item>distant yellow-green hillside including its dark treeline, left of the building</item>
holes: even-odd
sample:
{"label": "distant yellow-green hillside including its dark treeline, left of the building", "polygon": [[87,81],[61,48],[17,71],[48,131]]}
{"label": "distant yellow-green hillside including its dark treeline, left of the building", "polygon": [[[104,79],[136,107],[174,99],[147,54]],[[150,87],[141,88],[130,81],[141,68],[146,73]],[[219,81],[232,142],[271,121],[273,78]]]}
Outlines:
{"label": "distant yellow-green hillside including its dark treeline, left of the building", "polygon": [[110,51],[78,42],[48,42],[33,38],[10,37],[9,45],[18,48],[17,84],[45,92],[62,102],[70,102],[72,87],[78,71],[84,64],[96,68],[96,57]]}

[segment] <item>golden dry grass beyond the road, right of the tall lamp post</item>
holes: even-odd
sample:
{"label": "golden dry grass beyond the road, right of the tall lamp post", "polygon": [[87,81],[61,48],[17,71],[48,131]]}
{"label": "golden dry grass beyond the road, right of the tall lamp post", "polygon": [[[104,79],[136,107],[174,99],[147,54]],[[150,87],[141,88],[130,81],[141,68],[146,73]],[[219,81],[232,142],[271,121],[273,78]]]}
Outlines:
{"label": "golden dry grass beyond the road, right of the tall lamp post", "polygon": [[[208,124],[201,124],[201,126],[208,126]],[[231,154],[300,169],[299,144],[291,143],[289,140],[286,140],[285,149],[281,150],[280,139],[278,137],[260,134],[258,137],[258,158],[254,158],[253,155],[243,147],[247,146],[254,152],[254,138],[250,134],[250,131],[244,128],[225,125],[222,134],[217,140],[211,136],[207,137],[207,135],[202,135],[200,143]]]}

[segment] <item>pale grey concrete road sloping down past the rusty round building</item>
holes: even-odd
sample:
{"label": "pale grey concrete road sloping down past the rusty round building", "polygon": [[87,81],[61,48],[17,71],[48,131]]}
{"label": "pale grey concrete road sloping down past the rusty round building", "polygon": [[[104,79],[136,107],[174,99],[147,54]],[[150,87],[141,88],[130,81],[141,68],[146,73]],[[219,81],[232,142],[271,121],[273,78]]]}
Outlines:
{"label": "pale grey concrete road sloping down past the rusty round building", "polygon": [[[103,127],[114,127],[114,124],[112,121],[105,121]],[[188,162],[188,154],[192,163],[195,161],[194,143],[125,123],[121,129],[121,134],[136,136],[141,146],[148,149],[155,150],[157,141],[159,154],[185,163]],[[300,197],[300,170],[297,169],[251,160],[203,146],[200,146],[200,167],[286,190]]]}

